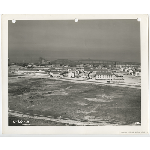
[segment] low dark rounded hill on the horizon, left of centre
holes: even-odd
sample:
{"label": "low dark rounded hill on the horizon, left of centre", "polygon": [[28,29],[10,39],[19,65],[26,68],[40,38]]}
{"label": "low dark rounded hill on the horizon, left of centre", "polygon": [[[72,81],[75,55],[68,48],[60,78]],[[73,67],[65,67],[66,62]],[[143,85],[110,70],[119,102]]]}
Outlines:
{"label": "low dark rounded hill on the horizon, left of centre", "polygon": [[69,65],[69,66],[76,66],[79,63],[72,61],[72,60],[68,60],[68,59],[57,59],[51,62],[51,64],[60,64],[60,65]]}

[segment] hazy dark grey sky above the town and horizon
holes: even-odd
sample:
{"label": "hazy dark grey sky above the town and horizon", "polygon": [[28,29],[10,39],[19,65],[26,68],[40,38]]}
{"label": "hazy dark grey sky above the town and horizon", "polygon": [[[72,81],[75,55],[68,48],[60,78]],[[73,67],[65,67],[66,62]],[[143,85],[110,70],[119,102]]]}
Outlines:
{"label": "hazy dark grey sky above the town and horizon", "polygon": [[140,62],[140,22],[9,20],[8,57],[11,62],[36,62],[39,57]]}

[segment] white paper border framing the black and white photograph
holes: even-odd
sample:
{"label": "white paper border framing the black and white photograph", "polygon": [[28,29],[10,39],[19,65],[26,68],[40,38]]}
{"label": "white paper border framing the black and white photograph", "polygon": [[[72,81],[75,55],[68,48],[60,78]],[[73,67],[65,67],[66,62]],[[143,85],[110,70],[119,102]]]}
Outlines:
{"label": "white paper border framing the black and white photograph", "polygon": [[[8,20],[138,19],[141,35],[141,126],[8,126]],[[138,21],[138,20],[137,20]],[[148,15],[2,15],[2,134],[145,135],[149,134]]]}

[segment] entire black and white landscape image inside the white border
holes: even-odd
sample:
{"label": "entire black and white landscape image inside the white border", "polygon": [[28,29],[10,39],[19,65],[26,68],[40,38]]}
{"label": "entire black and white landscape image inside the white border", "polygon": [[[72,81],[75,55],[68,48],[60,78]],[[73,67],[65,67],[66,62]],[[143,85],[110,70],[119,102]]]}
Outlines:
{"label": "entire black and white landscape image inside the white border", "polygon": [[141,18],[9,19],[7,126],[147,131]]}

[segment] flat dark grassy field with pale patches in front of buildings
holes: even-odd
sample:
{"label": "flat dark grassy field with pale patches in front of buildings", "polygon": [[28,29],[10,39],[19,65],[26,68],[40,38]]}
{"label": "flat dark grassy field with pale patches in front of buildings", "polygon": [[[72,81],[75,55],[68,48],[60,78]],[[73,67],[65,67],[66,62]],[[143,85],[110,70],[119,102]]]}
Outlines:
{"label": "flat dark grassy field with pale patches in front of buildings", "polygon": [[8,78],[9,125],[116,126],[141,122],[141,90],[50,78]]}

